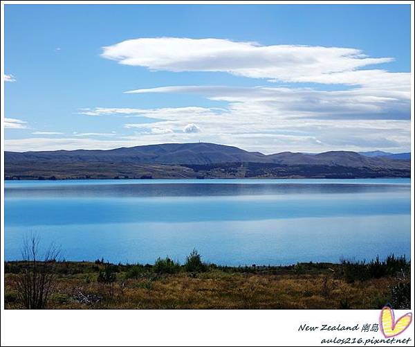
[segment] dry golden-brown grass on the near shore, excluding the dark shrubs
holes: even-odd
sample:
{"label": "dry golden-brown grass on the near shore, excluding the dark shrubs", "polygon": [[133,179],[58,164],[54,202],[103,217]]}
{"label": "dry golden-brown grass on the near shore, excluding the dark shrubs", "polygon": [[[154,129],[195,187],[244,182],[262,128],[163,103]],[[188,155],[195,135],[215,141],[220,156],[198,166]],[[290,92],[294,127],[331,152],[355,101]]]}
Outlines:
{"label": "dry golden-brown grass on the near shore, excluding the dark shrubs", "polygon": [[[113,285],[98,283],[102,265],[59,263],[50,309],[376,309],[389,301],[392,277],[347,283],[329,266],[263,269],[210,269],[201,274],[184,271],[157,275],[145,272],[127,278],[127,266],[118,266]],[[335,268],[335,265],[330,265]],[[16,279],[19,263],[6,263],[8,309],[21,308]],[[90,298],[83,302],[80,297]]]}

